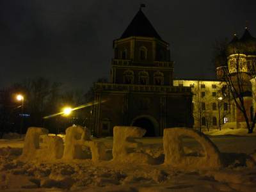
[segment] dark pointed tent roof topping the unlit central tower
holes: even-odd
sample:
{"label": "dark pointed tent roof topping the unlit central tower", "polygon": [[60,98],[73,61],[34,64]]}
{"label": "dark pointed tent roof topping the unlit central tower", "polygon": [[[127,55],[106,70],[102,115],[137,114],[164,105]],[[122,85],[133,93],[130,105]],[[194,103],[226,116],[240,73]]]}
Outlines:
{"label": "dark pointed tent roof topping the unlit central tower", "polygon": [[147,36],[155,37],[161,40],[161,37],[156,32],[156,29],[152,26],[150,21],[141,11],[135,15],[129,26],[125,29],[124,33],[120,38],[127,38],[129,36]]}

